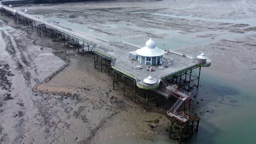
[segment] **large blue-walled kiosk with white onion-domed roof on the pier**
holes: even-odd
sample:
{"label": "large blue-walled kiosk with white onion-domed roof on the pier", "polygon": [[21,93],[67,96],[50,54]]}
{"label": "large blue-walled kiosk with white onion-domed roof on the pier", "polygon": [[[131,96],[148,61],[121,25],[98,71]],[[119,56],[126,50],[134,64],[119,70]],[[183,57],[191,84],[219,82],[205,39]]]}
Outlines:
{"label": "large blue-walled kiosk with white onion-domed roof on the pier", "polygon": [[141,64],[159,65],[162,64],[162,56],[164,54],[165,51],[156,47],[155,41],[150,38],[144,47],[130,52],[129,57],[137,60]]}

